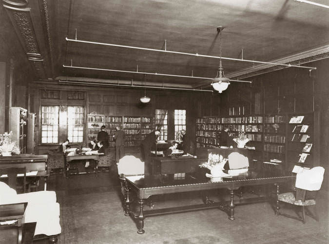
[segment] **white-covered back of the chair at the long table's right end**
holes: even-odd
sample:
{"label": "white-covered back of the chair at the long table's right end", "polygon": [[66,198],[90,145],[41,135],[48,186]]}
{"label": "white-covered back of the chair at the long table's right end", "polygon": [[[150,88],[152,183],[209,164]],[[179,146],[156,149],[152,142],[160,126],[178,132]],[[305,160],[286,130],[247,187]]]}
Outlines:
{"label": "white-covered back of the chair at the long table's right end", "polygon": [[303,170],[297,174],[295,186],[308,191],[320,190],[324,173],[325,169],[320,166]]}

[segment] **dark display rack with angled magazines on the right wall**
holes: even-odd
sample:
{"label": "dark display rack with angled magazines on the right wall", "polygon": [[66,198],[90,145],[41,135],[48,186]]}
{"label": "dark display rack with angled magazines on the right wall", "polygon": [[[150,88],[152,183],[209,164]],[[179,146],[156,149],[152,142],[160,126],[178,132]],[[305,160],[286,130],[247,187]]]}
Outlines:
{"label": "dark display rack with angled magazines on the right wall", "polygon": [[313,164],[313,114],[294,114],[288,122],[289,164],[311,167]]}

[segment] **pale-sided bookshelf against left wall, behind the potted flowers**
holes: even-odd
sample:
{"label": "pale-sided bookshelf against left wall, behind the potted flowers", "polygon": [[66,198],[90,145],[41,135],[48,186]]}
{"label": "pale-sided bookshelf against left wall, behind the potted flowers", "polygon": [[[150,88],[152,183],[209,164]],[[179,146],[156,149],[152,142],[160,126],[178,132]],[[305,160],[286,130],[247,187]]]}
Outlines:
{"label": "pale-sided bookshelf against left wall, behind the potted flowers", "polygon": [[9,108],[9,131],[13,132],[12,141],[16,141],[20,153],[27,150],[27,110],[21,107]]}

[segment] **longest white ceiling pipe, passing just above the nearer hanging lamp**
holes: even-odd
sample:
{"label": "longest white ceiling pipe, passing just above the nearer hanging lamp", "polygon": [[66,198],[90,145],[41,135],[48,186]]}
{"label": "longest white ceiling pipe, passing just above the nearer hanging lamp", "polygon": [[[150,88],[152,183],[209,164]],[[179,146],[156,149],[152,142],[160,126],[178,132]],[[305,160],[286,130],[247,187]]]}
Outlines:
{"label": "longest white ceiling pipe, passing just above the nearer hanging lamp", "polygon": [[145,48],[145,47],[126,46],[126,45],[111,44],[111,43],[104,43],[104,42],[97,42],[97,41],[82,41],[82,40],[77,40],[77,39],[69,39],[67,37],[65,38],[65,40],[66,41],[89,43],[89,44],[105,45],[105,46],[116,46],[116,47],[124,47],[124,48],[133,48],[133,49],[140,49],[140,50],[147,50],[147,51],[155,51],[155,52],[163,52],[163,53],[174,53],[174,54],[190,55],[190,56],[204,57],[204,58],[223,59],[223,60],[232,60],[232,61],[243,61],[243,62],[254,62],[254,63],[266,63],[266,64],[273,64],[273,65],[282,65],[282,66],[287,66],[287,67],[316,69],[316,67],[292,65],[292,64],[285,64],[285,63],[263,62],[263,61],[254,61],[254,60],[242,60],[242,59],[233,59],[233,58],[217,57],[217,56],[210,56],[210,55],[202,55],[202,54],[197,54],[197,53],[196,54],[194,54],[194,53],[183,53],[183,52],[175,52],[175,51],[168,51],[168,50],[161,50],[161,49],[153,49],[153,48]]}

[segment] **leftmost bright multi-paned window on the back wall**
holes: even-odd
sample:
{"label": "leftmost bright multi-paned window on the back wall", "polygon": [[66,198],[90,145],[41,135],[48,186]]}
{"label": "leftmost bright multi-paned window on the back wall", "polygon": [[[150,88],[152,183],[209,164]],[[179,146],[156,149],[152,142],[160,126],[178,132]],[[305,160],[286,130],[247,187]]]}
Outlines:
{"label": "leftmost bright multi-paned window on the back wall", "polygon": [[58,143],[59,106],[41,106],[41,143]]}

